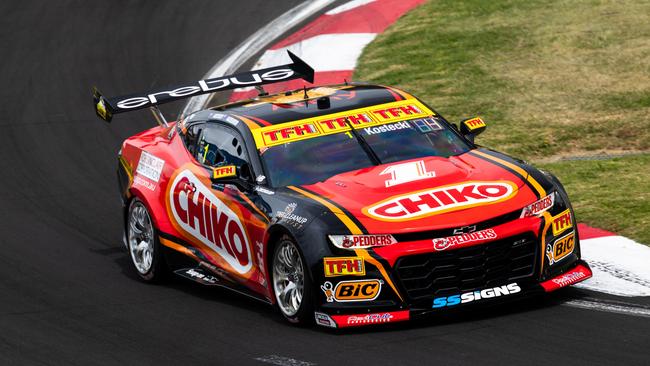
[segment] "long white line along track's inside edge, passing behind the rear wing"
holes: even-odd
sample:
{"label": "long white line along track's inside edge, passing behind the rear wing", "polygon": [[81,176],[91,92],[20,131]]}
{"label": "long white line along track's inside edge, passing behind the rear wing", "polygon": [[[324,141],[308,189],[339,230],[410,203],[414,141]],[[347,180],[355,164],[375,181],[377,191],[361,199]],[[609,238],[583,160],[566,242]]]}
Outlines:
{"label": "long white line along track's inside edge, passing behind the rear wing", "polygon": [[[307,0],[295,8],[280,15],[278,18],[260,28],[243,43],[230,51],[226,57],[219,60],[208,71],[203,79],[216,78],[233,73],[246,63],[256,53],[261,52],[266,46],[292,27],[300,24],[305,19],[319,12],[335,0]],[[201,110],[206,107],[212,94],[204,94],[191,98],[181,112],[183,115]]]}

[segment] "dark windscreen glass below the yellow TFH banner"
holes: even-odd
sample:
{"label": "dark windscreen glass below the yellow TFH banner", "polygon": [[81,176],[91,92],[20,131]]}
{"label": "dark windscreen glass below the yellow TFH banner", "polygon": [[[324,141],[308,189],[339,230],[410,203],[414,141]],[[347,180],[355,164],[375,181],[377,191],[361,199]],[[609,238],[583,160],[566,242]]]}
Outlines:
{"label": "dark windscreen glass below the yellow TFH banner", "polygon": [[[470,149],[436,117],[357,129],[380,162],[462,154]],[[373,165],[349,132],[320,136],[260,150],[267,179],[274,187],[312,184],[339,173]]]}

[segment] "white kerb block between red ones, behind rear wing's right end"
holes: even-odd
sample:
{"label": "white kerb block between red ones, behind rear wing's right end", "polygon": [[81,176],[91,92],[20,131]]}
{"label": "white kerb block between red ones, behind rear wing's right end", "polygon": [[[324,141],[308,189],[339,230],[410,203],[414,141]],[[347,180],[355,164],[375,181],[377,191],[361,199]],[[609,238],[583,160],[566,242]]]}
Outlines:
{"label": "white kerb block between red ones, behind rear wing's right end", "polygon": [[264,52],[253,70],[290,62],[287,50],[305,60],[316,72],[354,70],[361,51],[376,36],[375,33],[321,34]]}

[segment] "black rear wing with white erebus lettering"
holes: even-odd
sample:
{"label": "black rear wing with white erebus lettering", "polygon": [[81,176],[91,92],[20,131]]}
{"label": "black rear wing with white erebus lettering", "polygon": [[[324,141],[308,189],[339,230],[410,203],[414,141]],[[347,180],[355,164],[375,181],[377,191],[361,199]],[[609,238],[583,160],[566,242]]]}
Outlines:
{"label": "black rear wing with white erebus lettering", "polygon": [[292,63],[233,75],[199,80],[153,91],[129,94],[114,98],[104,97],[93,88],[95,113],[99,118],[110,122],[114,114],[135,111],[196,95],[215,93],[236,88],[260,86],[293,79],[314,82],[314,69],[298,56],[287,51]]}

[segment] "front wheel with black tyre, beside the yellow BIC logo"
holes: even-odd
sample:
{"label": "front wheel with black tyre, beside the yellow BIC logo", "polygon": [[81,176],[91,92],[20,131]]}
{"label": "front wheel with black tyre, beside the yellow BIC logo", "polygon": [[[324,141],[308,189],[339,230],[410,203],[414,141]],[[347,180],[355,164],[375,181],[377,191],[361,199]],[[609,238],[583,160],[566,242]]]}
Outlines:
{"label": "front wheel with black tyre, beside the yellow BIC logo", "polygon": [[273,292],[280,313],[298,325],[314,321],[313,286],[305,263],[295,241],[288,235],[282,236],[271,260]]}

